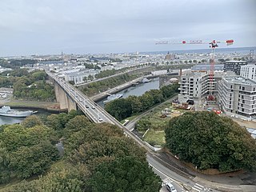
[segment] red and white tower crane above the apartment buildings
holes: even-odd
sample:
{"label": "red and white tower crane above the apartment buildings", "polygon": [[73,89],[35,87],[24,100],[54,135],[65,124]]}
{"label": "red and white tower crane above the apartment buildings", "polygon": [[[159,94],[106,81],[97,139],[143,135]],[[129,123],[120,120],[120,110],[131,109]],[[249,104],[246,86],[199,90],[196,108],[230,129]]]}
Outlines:
{"label": "red and white tower crane above the apartment buildings", "polygon": [[208,101],[214,101],[214,94],[213,94],[213,86],[214,86],[214,50],[216,47],[218,47],[218,43],[226,43],[227,46],[230,46],[234,43],[233,39],[226,40],[226,41],[202,41],[202,40],[190,40],[190,41],[180,41],[180,42],[175,42],[175,41],[162,41],[162,42],[155,42],[156,45],[162,45],[162,44],[209,44],[210,48],[212,49],[212,54],[210,57],[210,91],[209,95],[207,97]]}

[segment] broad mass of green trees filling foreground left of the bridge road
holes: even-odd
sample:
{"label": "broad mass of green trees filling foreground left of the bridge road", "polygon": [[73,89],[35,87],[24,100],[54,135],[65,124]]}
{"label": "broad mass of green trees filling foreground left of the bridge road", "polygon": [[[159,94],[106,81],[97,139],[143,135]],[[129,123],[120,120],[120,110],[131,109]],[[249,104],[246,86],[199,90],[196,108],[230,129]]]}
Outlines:
{"label": "broad mass of green trees filling foreground left of the bridge road", "polygon": [[[146,162],[146,151],[118,126],[94,124],[70,111],[43,122],[30,117],[21,125],[0,128],[0,183],[29,178],[5,191],[158,191],[161,187],[161,179]],[[65,149],[60,160],[56,135]]]}

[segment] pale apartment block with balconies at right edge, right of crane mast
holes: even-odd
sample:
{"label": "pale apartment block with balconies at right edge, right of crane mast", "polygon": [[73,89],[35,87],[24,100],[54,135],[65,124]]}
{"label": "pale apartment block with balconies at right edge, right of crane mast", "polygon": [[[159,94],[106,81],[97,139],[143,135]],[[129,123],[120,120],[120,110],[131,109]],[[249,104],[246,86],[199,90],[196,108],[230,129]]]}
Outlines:
{"label": "pale apartment block with balconies at right edge, right of crane mast", "polygon": [[255,116],[256,82],[241,76],[222,78],[218,86],[218,103],[225,112]]}

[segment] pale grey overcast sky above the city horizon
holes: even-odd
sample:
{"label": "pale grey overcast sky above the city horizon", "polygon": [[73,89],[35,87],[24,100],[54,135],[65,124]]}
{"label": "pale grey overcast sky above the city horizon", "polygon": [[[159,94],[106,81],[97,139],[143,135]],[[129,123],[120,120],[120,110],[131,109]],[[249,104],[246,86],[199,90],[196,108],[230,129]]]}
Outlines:
{"label": "pale grey overcast sky above the city horizon", "polygon": [[[0,0],[0,57],[256,46],[255,0]],[[219,45],[225,48],[225,44]]]}

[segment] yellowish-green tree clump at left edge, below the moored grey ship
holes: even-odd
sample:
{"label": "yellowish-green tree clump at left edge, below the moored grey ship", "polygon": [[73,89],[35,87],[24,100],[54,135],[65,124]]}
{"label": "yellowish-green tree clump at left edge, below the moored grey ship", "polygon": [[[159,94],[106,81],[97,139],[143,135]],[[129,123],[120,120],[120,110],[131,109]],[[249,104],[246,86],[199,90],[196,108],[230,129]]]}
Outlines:
{"label": "yellowish-green tree clump at left edge, below the moored grey ship", "polygon": [[43,125],[6,126],[0,133],[0,183],[11,176],[29,178],[44,173],[58,159],[58,150],[50,143],[53,134],[54,130]]}

